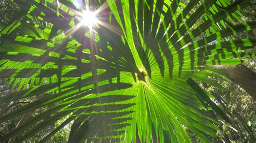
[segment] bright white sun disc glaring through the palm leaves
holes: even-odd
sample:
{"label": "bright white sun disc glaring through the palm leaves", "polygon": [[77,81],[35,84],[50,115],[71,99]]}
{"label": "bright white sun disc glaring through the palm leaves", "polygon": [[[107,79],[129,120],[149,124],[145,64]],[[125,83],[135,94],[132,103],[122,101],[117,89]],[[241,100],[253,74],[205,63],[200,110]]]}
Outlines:
{"label": "bright white sun disc glaring through the palm leaves", "polygon": [[97,24],[97,22],[98,20],[95,12],[92,12],[92,11],[83,12],[83,20],[82,20],[83,25],[91,28],[93,25]]}

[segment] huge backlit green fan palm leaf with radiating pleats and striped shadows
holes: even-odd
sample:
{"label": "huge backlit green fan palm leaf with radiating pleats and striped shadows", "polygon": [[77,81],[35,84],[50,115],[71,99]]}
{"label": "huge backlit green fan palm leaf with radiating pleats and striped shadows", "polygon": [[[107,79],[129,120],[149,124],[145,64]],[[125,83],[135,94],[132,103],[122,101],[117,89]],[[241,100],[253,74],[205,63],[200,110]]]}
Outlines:
{"label": "huge backlit green fan palm leaf with radiating pleats and striped shadows", "polygon": [[244,52],[254,39],[230,38],[256,26],[239,19],[246,1],[94,1],[105,9],[93,30],[69,1],[16,3],[22,11],[0,37],[0,77],[18,91],[0,103],[41,96],[0,121],[48,110],[2,141],[65,119],[41,141],[74,120],[69,141],[190,142],[188,128],[207,142],[203,133],[217,137],[218,122],[205,110],[229,119],[192,78],[220,87],[207,79],[214,70],[201,67],[254,55]]}

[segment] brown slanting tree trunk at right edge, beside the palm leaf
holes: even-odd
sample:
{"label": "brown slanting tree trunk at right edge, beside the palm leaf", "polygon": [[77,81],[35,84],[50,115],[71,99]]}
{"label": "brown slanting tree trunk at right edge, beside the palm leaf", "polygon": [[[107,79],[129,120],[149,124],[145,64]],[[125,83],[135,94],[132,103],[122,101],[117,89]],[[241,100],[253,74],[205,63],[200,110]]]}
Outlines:
{"label": "brown slanting tree trunk at right edge, beside the palm leaf", "polygon": [[232,81],[250,94],[256,100],[256,74],[244,65],[214,65],[207,66],[218,69]]}

